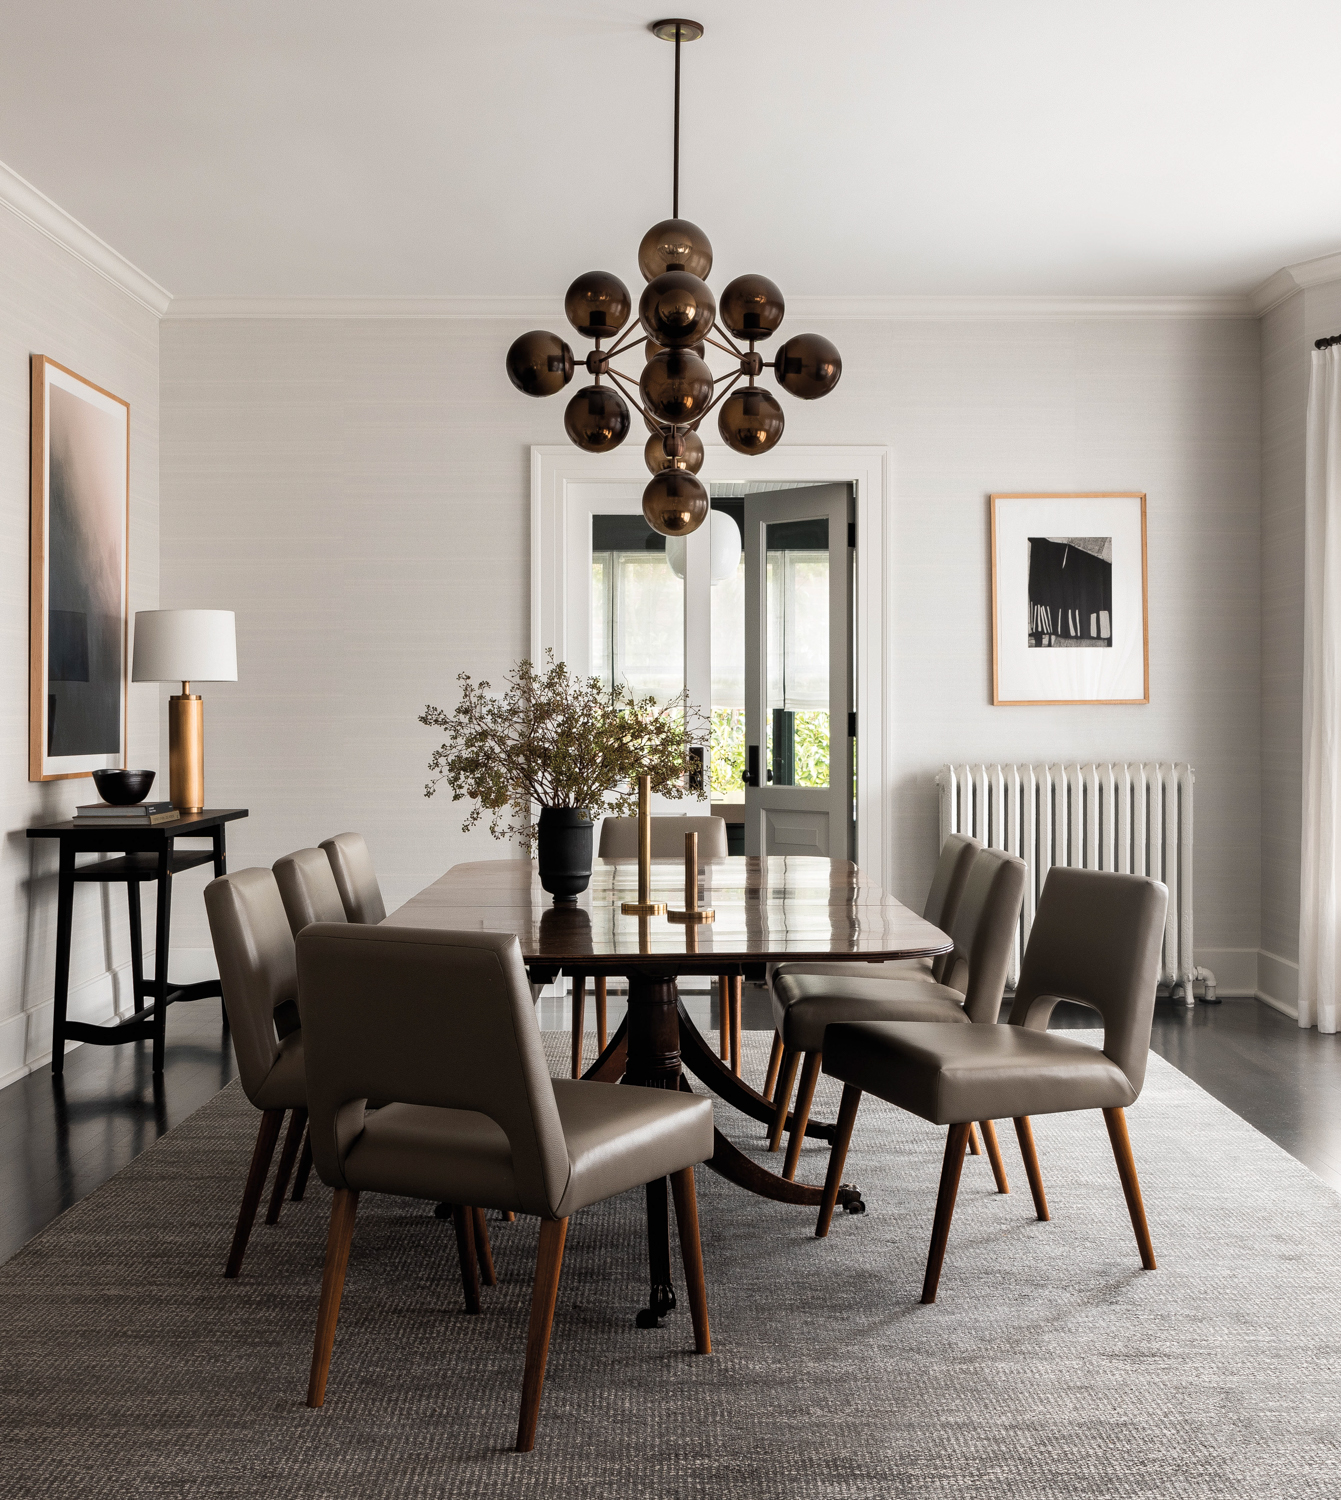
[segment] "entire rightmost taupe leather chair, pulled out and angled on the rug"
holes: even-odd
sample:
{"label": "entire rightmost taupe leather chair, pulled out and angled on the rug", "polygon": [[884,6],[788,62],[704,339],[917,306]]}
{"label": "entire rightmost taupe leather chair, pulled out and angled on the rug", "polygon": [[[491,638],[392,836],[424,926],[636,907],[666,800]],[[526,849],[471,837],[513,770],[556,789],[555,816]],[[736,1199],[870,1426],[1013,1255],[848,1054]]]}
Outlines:
{"label": "entire rightmost taupe leather chair, pulled out and angled on the rug", "polygon": [[[1167,886],[1144,876],[1053,868],[1038,902],[1008,1024],[831,1026],[824,1071],[843,1083],[843,1102],[814,1233],[825,1236],[832,1221],[862,1092],[933,1125],[948,1125],[922,1282],[922,1302],[934,1302],[970,1122],[1016,1122],[1035,1212],[1046,1220],[1029,1116],[1094,1108],[1102,1112],[1108,1128],[1142,1264],[1154,1270],[1155,1250],[1124,1112],[1140,1096],[1146,1077],[1167,906]],[[1100,1012],[1102,1048],[1048,1034],[1059,1000],[1078,1000]]]}

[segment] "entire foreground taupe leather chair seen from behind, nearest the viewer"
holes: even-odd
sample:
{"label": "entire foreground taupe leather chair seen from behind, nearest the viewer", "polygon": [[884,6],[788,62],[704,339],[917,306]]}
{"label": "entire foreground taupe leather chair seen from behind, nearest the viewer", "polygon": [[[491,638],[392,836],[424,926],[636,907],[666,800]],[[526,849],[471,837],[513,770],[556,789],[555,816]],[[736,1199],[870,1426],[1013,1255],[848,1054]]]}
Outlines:
{"label": "entire foreground taupe leather chair seen from behind, nearest the viewer", "polygon": [[[579,1209],[670,1178],[694,1347],[712,1352],[693,1182],[694,1164],[712,1155],[706,1098],[550,1078],[510,933],[318,922],[297,950],[312,1149],[334,1190],[308,1406],[326,1400],[362,1192],[540,1220],[519,1452],[536,1443],[564,1240]],[[370,1096],[393,1102],[369,1113]]]}

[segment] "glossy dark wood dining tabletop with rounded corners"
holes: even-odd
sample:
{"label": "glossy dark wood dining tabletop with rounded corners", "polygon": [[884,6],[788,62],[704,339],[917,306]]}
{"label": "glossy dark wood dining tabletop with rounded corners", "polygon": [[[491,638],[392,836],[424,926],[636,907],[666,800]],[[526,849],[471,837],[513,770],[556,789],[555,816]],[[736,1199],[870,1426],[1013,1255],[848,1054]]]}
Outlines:
{"label": "glossy dark wood dining tabletop with rounded corners", "polygon": [[[387,922],[516,933],[530,966],[580,964],[586,974],[720,974],[724,963],[754,968],[784,958],[878,963],[951,946],[848,860],[736,855],[699,868],[699,906],[717,916],[696,927],[621,914],[622,902],[638,898],[636,860],[596,860],[591,885],[573,906],[554,904],[530,860],[458,864]],[[682,860],[652,861],[652,900],[684,906]]]}

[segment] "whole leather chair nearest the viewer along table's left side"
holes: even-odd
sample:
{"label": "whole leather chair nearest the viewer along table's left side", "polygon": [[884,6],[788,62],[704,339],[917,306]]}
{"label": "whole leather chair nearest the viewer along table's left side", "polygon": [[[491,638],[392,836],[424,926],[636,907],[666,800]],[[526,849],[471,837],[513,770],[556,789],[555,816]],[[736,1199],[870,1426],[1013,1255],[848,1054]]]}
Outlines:
{"label": "whole leather chair nearest the viewer along table's left side", "polygon": [[[290,1173],[308,1120],[303,1034],[297,1022],[297,964],[288,916],[270,870],[237,870],[206,886],[210,938],[219,963],[224,1008],[232,1034],[237,1071],[250,1102],[261,1112],[250,1170],[232,1232],[225,1276],[242,1270],[256,1208],[270,1172],[274,1143],[290,1116],[288,1134],[274,1174],[266,1222],[276,1224]],[[292,1017],[292,1023],[285,1020]],[[298,1172],[294,1198],[303,1197],[306,1173]]]}

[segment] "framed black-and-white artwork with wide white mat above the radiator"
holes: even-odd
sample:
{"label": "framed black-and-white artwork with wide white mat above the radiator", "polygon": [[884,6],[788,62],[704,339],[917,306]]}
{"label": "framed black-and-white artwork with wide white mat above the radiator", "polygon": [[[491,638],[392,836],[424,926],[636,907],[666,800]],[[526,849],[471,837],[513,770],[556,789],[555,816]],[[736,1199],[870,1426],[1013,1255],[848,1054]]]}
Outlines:
{"label": "framed black-and-white artwork with wide white mat above the radiator", "polygon": [[1146,496],[992,496],[992,702],[1149,704]]}

